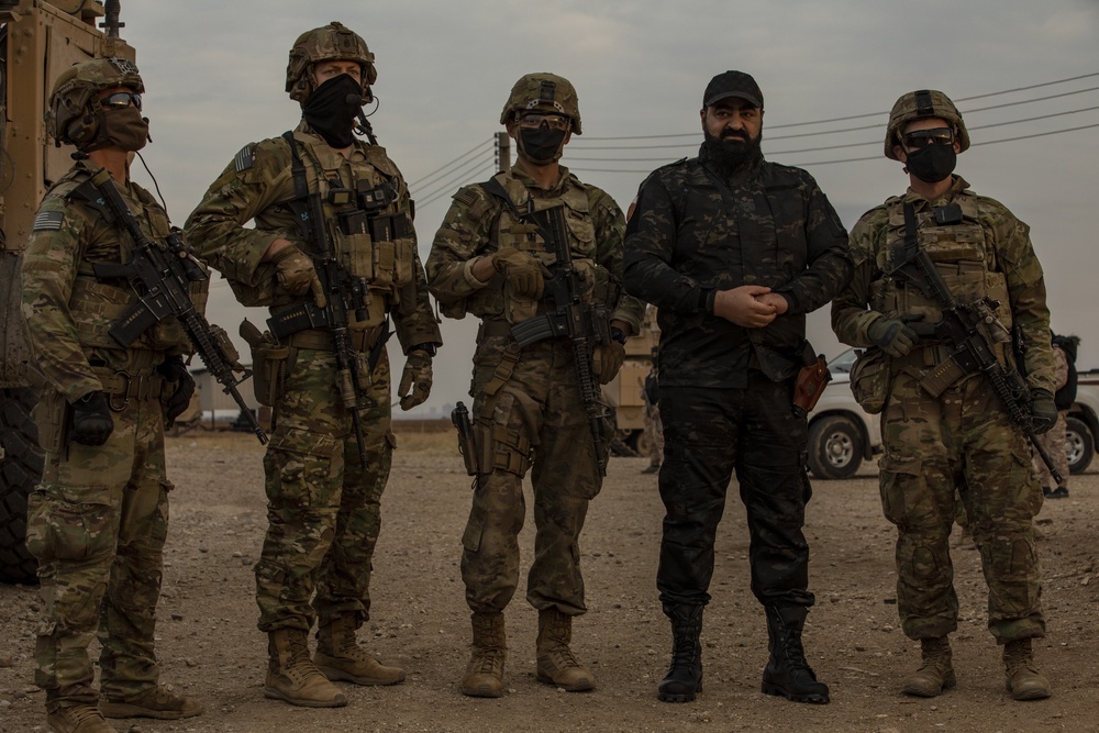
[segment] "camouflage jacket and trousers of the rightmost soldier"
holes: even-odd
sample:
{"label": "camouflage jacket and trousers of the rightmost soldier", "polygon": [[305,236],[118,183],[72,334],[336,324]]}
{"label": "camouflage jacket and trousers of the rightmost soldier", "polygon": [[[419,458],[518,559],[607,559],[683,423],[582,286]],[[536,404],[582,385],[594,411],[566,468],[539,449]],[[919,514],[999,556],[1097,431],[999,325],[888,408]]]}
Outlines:
{"label": "camouflage jacket and trousers of the rightmost soldier", "polygon": [[[979,297],[1000,288],[1001,320],[1013,323],[1030,345],[1024,373],[1032,388],[1053,391],[1050,314],[1042,268],[1026,225],[1002,204],[968,191],[955,176],[941,200],[926,201],[911,189],[870,210],[852,230],[855,276],[832,304],[840,341],[876,349],[866,330],[878,318],[924,313],[935,304],[886,276],[896,243],[903,237],[903,202],[918,219],[921,247],[940,264],[956,297]],[[935,207],[957,202],[957,231],[937,226]],[[972,232],[972,233],[970,233]],[[1003,348],[1000,358],[1011,360]],[[955,490],[980,551],[988,582],[988,625],[998,643],[1044,635],[1041,574],[1032,519],[1042,491],[1031,470],[1025,437],[1013,426],[980,375],[958,379],[937,399],[919,381],[945,356],[932,344],[899,359],[886,358],[889,397],[881,414],[885,455],[879,481],[886,518],[897,525],[898,612],[910,638],[954,631],[957,597],[947,536],[955,519]]]}

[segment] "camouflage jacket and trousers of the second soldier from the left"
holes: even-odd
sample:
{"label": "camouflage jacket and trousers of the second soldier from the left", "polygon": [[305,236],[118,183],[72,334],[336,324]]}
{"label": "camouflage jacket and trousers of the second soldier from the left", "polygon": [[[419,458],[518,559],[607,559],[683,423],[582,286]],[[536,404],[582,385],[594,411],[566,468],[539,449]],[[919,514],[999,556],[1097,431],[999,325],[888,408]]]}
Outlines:
{"label": "camouflage jacket and trousers of the second soldier from the left", "polygon": [[[368,280],[366,321],[351,314],[351,330],[377,327],[390,318],[402,348],[441,344],[439,324],[428,300],[415,233],[393,226],[392,238],[346,234],[338,225],[343,209],[329,200],[338,182],[355,191],[387,186],[391,202],[374,212],[389,222],[411,223],[408,186],[384,148],[356,142],[351,157],[332,149],[302,122],[295,131],[307,168],[310,192],[324,201],[332,245],[354,275]],[[188,219],[186,231],[199,256],[225,275],[237,298],[273,310],[296,306],[302,296],[284,290],[275,267],[260,262],[276,238],[303,252],[296,219],[284,203],[293,199],[291,153],[282,137],[246,145],[225,167]],[[354,201],[354,197],[352,197]],[[254,219],[255,229],[245,227]],[[291,337],[292,338],[292,337]],[[373,344],[365,344],[368,352]],[[273,437],[264,460],[268,531],[256,565],[260,631],[282,628],[308,631],[337,615],[369,615],[374,546],[380,529],[380,497],[389,477],[395,438],[390,430],[390,367],[384,352],[374,373],[363,367],[363,385],[373,400],[360,412],[369,466],[362,466],[351,414],[336,389],[335,356],[330,351],[299,348],[288,366],[274,406]],[[359,355],[365,365],[367,353]]]}

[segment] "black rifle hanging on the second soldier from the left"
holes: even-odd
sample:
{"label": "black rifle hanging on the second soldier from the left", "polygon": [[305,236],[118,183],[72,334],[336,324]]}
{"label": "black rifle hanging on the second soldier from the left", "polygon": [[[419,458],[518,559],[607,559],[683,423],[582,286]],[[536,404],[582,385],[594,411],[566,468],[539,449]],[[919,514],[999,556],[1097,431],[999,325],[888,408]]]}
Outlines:
{"label": "black rifle hanging on the second soldier from the left", "polygon": [[[368,318],[366,278],[354,277],[336,257],[325,229],[321,195],[317,191],[309,191],[306,166],[301,162],[301,154],[298,152],[293,133],[287,132],[282,137],[290,145],[290,170],[293,175],[295,189],[295,199],[289,201],[287,206],[297,215],[306,240],[312,247],[312,252],[308,254],[313,260],[313,268],[321,281],[324,303],[318,304],[312,300],[306,300],[299,306],[274,313],[267,320],[267,325],[271,333],[280,340],[306,329],[319,329],[332,334],[332,345],[336,356],[336,389],[340,391],[344,407],[351,413],[355,441],[358,444],[358,457],[363,469],[366,470],[369,460],[367,459],[366,437],[363,434],[363,421],[359,412],[374,406],[363,397],[363,375],[359,368],[358,352],[352,345],[349,330],[351,312],[355,313],[357,321],[366,321]],[[347,195],[349,196],[351,192],[348,191]],[[388,204],[389,201],[378,199],[371,203],[371,207],[380,210]],[[343,223],[348,227],[366,226],[366,215],[364,213],[362,216]]]}

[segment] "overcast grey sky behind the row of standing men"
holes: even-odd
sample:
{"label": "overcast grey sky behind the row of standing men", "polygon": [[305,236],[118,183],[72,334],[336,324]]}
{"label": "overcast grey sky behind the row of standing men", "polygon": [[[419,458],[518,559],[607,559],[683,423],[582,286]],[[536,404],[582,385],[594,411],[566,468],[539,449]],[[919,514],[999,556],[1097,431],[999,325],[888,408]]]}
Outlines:
{"label": "overcast grey sky behind the row of standing men", "polygon": [[[495,171],[500,109],[530,71],[576,86],[585,134],[563,163],[623,209],[645,171],[697,153],[710,77],[747,71],[765,97],[764,152],[808,169],[848,227],[907,186],[881,155],[893,101],[941,89],[974,142],[957,173],[1031,225],[1053,327],[1083,337],[1081,368],[1099,367],[1096,0],[124,0],[122,19],[147,87],[145,159],[180,225],[245,143],[297,124],[284,92],[297,35],[333,20],[359,33],[378,67],[374,129],[419,200],[424,259],[449,193]],[[840,118],[854,119],[820,122]],[[1073,127],[1086,129],[1056,133]],[[650,137],[623,140],[637,136]],[[851,158],[870,159],[835,163]],[[826,311],[810,338],[832,356]],[[244,314],[217,282],[210,320],[235,333]],[[444,321],[425,410],[467,399],[468,322]]]}

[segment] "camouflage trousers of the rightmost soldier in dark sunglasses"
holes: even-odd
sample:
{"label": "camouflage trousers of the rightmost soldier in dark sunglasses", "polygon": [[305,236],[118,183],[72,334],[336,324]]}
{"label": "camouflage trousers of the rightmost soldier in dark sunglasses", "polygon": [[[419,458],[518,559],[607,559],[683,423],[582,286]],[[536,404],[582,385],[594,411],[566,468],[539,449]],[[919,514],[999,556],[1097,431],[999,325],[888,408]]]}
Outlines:
{"label": "camouflage trousers of the rightmost soldier in dark sunglasses", "polygon": [[881,414],[881,506],[897,526],[897,610],[909,638],[957,629],[948,536],[955,491],[980,552],[988,628],[997,643],[1044,636],[1032,520],[1042,489],[1026,438],[979,375],[939,399],[908,373],[892,378]]}

